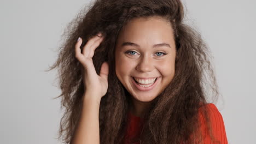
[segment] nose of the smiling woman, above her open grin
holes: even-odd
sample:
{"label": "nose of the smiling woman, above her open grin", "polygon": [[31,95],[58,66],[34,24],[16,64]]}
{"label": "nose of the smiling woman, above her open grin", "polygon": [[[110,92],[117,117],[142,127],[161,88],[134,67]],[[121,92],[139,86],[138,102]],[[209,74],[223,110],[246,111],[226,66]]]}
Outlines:
{"label": "nose of the smiling woman, above her open grin", "polygon": [[136,69],[141,72],[152,71],[154,69],[154,63],[152,61],[152,57],[142,56],[137,63]]}

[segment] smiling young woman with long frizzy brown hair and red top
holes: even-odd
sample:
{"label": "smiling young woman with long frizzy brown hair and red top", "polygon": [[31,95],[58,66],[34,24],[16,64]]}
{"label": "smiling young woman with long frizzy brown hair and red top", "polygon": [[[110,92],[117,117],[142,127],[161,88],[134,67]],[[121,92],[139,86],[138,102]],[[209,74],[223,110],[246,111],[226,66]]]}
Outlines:
{"label": "smiling young woman with long frizzy brown hair and red top", "polygon": [[59,58],[65,143],[228,143],[210,55],[179,0],[98,0]]}

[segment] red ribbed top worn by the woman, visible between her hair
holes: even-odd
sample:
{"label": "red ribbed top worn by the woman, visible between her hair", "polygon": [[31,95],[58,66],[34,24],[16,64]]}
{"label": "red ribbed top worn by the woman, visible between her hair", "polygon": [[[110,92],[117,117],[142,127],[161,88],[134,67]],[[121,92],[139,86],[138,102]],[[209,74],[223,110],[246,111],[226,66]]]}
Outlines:
{"label": "red ribbed top worn by the woman, visible between her hair", "polygon": [[[218,140],[222,144],[228,143],[226,139],[226,131],[223,122],[222,115],[218,111],[217,107],[214,104],[206,104],[206,109],[210,114],[211,126],[212,126],[212,134],[216,140]],[[210,134],[208,134],[208,130],[206,128],[205,118],[202,115],[201,109],[199,109],[199,119],[201,123],[201,131],[203,135],[203,143],[207,144],[215,144],[217,142],[213,142],[211,140]],[[128,129],[126,131],[126,136],[124,139],[124,144],[139,144],[139,141],[133,142],[132,140],[138,139],[138,135],[141,132],[143,119],[137,116],[132,115],[132,113],[128,113]]]}

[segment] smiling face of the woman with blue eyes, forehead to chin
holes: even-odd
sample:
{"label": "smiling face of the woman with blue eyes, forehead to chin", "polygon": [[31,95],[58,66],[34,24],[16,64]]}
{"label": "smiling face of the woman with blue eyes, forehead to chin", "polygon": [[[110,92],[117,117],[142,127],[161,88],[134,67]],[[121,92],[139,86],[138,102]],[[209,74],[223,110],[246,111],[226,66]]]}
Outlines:
{"label": "smiling face of the woman with blue eyes, forehead to chin", "polygon": [[133,100],[148,102],[173,79],[175,57],[170,22],[161,17],[135,18],[120,31],[115,72]]}

